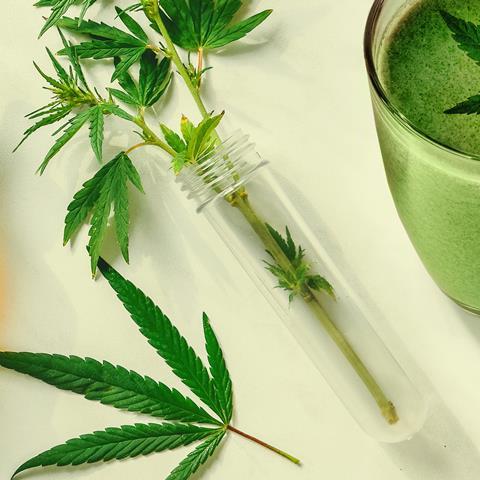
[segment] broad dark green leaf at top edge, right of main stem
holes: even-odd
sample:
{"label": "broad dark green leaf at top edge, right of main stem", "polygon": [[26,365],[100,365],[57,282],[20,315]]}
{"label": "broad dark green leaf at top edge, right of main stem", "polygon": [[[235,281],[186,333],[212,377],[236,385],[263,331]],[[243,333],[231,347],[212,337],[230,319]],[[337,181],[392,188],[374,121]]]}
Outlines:
{"label": "broad dark green leaf at top edge, right of main stem", "polygon": [[159,4],[173,42],[190,51],[228,45],[250,33],[272,13],[265,10],[233,23],[241,0],[159,0]]}

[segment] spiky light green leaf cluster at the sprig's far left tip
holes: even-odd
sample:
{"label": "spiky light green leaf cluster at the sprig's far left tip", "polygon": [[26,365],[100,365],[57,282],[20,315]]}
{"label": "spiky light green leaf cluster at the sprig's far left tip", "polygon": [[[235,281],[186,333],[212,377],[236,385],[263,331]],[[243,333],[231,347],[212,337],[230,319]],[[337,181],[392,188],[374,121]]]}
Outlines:
{"label": "spiky light green leaf cluster at the sprig's far left tip", "polygon": [[94,94],[87,84],[82,67],[78,62],[74,50],[62,36],[62,40],[68,49],[69,70],[65,70],[50,50],[47,53],[55,69],[57,78],[45,74],[38,65],[35,68],[46,80],[48,90],[53,93],[53,101],[47,105],[29,113],[27,118],[34,120],[34,124],[25,132],[20,145],[34,132],[42,127],[53,125],[73,114],[54,135],[61,135],[56,138],[53,146],[47,152],[39,167],[43,173],[50,160],[76,135],[86,124],[90,124],[90,143],[98,161],[102,160],[103,137],[104,137],[104,116],[116,115],[125,120],[132,121],[133,117],[115,105],[111,101],[104,100],[98,94]]}

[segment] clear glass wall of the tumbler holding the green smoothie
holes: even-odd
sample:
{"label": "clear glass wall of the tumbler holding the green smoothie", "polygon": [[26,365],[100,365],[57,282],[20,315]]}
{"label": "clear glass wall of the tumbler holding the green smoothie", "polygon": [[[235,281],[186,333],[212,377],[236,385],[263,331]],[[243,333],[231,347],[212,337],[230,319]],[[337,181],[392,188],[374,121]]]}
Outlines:
{"label": "clear glass wall of the tumbler holding the green smoothie", "polygon": [[411,0],[376,0],[365,58],[378,138],[398,214],[426,269],[463,308],[480,314],[480,156],[419,131],[382,86],[379,58],[392,22]]}

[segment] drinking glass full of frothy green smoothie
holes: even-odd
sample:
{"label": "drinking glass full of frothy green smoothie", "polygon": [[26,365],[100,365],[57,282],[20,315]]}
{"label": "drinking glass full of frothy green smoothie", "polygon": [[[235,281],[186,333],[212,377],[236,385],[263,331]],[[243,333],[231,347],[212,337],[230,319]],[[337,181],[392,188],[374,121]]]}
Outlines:
{"label": "drinking glass full of frothy green smoothie", "polygon": [[445,113],[480,92],[480,65],[441,12],[479,24],[480,0],[376,0],[365,57],[398,214],[438,286],[480,314],[480,115]]}

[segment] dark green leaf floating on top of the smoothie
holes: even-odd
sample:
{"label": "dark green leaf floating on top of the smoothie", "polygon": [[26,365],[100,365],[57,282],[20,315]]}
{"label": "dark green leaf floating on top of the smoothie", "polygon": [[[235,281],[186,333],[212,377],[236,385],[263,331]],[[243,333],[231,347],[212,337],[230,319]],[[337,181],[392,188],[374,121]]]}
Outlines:
{"label": "dark green leaf floating on top of the smoothie", "polygon": [[[450,29],[452,37],[457,42],[458,47],[480,65],[480,25],[467,22],[445,11],[440,11],[440,14]],[[465,115],[480,114],[480,94],[469,97],[467,100],[445,110],[444,113]]]}

